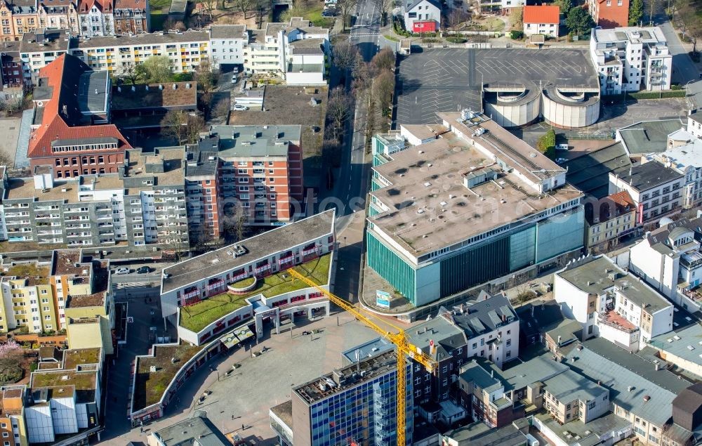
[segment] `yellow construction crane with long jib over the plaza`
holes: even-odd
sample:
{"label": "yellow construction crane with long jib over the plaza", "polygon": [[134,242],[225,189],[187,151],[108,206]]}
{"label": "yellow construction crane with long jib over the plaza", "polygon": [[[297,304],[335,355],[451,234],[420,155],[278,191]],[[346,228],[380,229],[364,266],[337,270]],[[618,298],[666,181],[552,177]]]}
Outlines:
{"label": "yellow construction crane with long jib over the plaza", "polygon": [[383,336],[385,339],[388,339],[388,341],[395,344],[395,347],[397,347],[397,446],[406,446],[405,433],[407,424],[407,413],[405,404],[407,382],[405,369],[406,364],[404,358],[405,356],[409,356],[409,358],[423,365],[425,369],[427,369],[427,371],[430,373],[434,372],[434,370],[436,369],[438,365],[437,362],[433,360],[429,355],[424,353],[420,348],[413,346],[411,343],[409,343],[409,341],[407,340],[407,336],[402,328],[397,327],[388,321],[380,320],[377,317],[374,317],[376,320],[395,328],[397,330],[397,333],[383,329],[383,327],[380,327],[380,325],[376,324],[376,322],[373,322],[373,320],[371,320],[369,316],[366,316],[363,313],[361,313],[360,308],[356,308],[349,301],[346,301],[345,299],[342,299],[339,296],[336,296],[335,294],[326,291],[326,289],[314,283],[309,277],[305,277],[293,268],[290,268],[288,272],[296,279],[302,280],[306,284],[310,285],[310,287],[316,288],[319,292],[323,293],[326,297],[328,297],[329,301],[335,303],[340,308],[343,308],[348,313],[351,313],[358,320],[366,324],[369,328],[375,330],[378,334],[380,334],[380,336]]}

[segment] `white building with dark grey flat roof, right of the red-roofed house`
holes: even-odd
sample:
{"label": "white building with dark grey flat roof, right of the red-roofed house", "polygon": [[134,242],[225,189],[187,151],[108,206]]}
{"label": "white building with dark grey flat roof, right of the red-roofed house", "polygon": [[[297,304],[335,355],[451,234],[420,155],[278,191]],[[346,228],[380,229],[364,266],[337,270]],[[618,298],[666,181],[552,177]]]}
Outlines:
{"label": "white building with dark grey flat roof, right of the red-roofed house", "polygon": [[628,192],[637,211],[637,224],[649,225],[663,216],[679,214],[686,177],[658,162],[609,173],[609,194]]}

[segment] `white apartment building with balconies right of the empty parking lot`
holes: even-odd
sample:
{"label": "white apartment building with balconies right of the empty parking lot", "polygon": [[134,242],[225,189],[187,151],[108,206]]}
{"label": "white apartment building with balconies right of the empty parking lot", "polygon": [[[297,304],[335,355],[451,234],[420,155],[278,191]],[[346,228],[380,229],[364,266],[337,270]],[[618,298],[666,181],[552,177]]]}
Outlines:
{"label": "white apartment building with balconies right of the empty parking lot", "polygon": [[590,58],[603,95],[670,89],[673,55],[661,28],[593,28]]}

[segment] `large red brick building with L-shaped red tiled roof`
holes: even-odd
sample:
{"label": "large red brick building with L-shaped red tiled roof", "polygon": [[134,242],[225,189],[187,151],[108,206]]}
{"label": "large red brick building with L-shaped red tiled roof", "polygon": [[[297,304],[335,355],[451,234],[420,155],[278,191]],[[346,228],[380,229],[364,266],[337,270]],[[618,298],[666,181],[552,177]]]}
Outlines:
{"label": "large red brick building with L-shaped red tiled roof", "polygon": [[29,166],[50,164],[55,178],[117,173],[131,148],[110,116],[110,77],[72,55],[60,55],[39,71]]}

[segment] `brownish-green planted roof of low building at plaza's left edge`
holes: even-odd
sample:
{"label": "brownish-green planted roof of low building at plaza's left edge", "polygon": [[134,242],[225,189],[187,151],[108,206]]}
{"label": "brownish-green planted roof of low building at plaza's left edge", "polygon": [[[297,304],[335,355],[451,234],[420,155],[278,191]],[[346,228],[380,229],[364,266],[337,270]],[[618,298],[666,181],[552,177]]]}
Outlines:
{"label": "brownish-green planted roof of low building at plaza's left edge", "polygon": [[[143,409],[159,402],[164,395],[168,383],[176,376],[185,362],[197,354],[204,346],[156,346],[154,358],[139,358],[139,365],[134,388],[134,410]],[[173,364],[171,358],[178,362]],[[150,372],[155,365],[156,372]]]}

